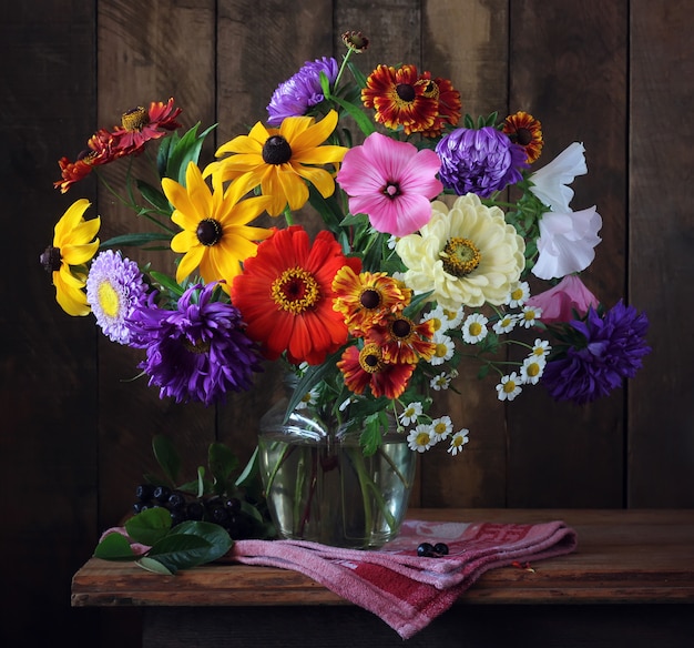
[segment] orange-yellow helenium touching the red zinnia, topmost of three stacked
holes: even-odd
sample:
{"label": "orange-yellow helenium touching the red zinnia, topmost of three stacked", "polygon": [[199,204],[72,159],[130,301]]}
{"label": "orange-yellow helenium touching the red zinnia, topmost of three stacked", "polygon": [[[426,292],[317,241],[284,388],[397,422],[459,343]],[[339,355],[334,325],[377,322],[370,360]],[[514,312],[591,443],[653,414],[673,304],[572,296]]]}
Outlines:
{"label": "orange-yellow helenium touching the red zinnia, topmost of three stacked", "polygon": [[356,274],[347,265],[335,275],[333,290],[333,307],[345,316],[349,333],[357,337],[387,315],[402,311],[412,296],[402,282],[385,272]]}

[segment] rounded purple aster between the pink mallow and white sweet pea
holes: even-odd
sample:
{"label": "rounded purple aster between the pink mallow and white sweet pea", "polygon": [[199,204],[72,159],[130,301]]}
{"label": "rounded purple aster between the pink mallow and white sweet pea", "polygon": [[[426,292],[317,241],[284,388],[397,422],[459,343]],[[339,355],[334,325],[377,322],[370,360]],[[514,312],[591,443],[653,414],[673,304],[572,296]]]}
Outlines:
{"label": "rounded purple aster between the pink mallow and white sweet pea", "polygon": [[525,150],[493,126],[456,129],[441,138],[436,152],[443,186],[458,195],[489,198],[522,180],[521,169],[528,168]]}

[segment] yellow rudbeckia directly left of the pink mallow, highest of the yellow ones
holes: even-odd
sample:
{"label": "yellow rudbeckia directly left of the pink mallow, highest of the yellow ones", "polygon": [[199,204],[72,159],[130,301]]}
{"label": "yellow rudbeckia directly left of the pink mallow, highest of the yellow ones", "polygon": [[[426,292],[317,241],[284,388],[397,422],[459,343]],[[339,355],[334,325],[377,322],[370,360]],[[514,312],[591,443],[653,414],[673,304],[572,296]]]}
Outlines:
{"label": "yellow rudbeckia directly left of the pink mallow, highest of the yellow ones", "polygon": [[273,216],[282,214],[287,204],[292,211],[299,210],[308,201],[305,181],[323,198],[335,191],[333,174],[316,165],[337,165],[345,156],[345,146],[320,145],[336,125],[334,110],[317,123],[313,117],[288,117],[278,129],[258,122],[247,135],[222,144],[217,158],[234,155],[210,164],[205,175],[218,174],[223,182],[236,181],[244,191],[261,186],[261,193],[272,198],[267,212]]}

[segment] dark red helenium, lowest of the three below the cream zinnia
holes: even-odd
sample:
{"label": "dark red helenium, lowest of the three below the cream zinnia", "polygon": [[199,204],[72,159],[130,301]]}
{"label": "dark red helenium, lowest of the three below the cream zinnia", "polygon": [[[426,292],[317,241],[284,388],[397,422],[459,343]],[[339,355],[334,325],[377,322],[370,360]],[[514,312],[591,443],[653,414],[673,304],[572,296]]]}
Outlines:
{"label": "dark red helenium, lowest of the three below the cream zinnia", "polygon": [[386,363],[378,344],[374,343],[365,344],[361,350],[348,346],[337,366],[345,385],[355,394],[364,394],[368,385],[376,398],[386,396],[391,401],[402,395],[415,371],[414,364]]}

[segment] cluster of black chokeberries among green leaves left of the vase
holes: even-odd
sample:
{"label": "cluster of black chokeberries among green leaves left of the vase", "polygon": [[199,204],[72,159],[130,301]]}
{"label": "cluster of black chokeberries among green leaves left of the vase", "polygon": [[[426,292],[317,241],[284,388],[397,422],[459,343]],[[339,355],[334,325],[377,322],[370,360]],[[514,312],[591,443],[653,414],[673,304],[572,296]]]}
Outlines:
{"label": "cluster of black chokeberries among green leaves left of the vase", "polygon": [[133,513],[142,513],[155,506],[169,510],[172,526],[187,520],[204,520],[218,524],[235,540],[254,537],[254,519],[243,510],[243,503],[238,497],[194,497],[181,490],[172,490],[167,486],[140,484],[135,488]]}

